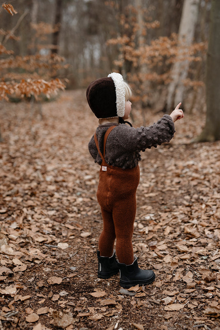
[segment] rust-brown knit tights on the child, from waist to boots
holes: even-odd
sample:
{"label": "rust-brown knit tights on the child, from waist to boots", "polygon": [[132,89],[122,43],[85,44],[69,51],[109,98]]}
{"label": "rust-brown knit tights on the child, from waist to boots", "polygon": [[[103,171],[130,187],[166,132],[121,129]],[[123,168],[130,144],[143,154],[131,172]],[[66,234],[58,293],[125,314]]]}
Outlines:
{"label": "rust-brown knit tights on the child, from waist to boots", "polygon": [[100,171],[97,199],[102,211],[103,231],[99,238],[99,251],[101,256],[110,257],[116,238],[119,262],[130,265],[134,261],[132,235],[139,167],[127,172],[117,169],[108,166],[108,173]]}

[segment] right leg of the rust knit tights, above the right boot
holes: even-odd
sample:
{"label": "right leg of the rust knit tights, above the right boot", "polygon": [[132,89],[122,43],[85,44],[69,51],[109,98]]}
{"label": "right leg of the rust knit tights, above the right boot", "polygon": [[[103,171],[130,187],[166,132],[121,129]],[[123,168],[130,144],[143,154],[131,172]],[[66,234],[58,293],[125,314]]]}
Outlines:
{"label": "right leg of the rust knit tights, above the right boot", "polygon": [[116,202],[113,208],[113,220],[116,234],[116,255],[120,263],[131,265],[134,262],[132,235],[136,215],[136,197],[124,202]]}

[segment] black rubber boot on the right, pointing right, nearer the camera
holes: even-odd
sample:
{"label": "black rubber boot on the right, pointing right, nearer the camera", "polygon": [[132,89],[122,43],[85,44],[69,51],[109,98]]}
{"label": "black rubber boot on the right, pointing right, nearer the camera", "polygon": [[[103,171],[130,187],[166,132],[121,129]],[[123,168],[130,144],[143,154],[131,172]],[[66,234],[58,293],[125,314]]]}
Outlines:
{"label": "black rubber boot on the right, pointing right, nearer the camera", "polygon": [[118,262],[120,270],[120,285],[123,288],[130,288],[135,285],[150,284],[155,280],[155,274],[152,270],[142,270],[138,267],[138,258],[134,256],[134,262],[131,265]]}

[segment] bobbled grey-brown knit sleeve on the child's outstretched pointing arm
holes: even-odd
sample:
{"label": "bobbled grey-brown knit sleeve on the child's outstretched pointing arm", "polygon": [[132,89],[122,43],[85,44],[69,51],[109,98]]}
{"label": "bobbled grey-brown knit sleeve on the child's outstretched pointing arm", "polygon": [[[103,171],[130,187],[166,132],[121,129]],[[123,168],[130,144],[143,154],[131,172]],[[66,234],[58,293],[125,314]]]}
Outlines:
{"label": "bobbled grey-brown knit sleeve on the child's outstretched pointing arm", "polygon": [[117,127],[115,128],[115,137],[112,134],[112,138],[117,139],[126,151],[145,151],[147,148],[156,148],[157,145],[170,142],[175,133],[174,123],[169,115],[164,115],[149,127],[134,128],[122,124],[119,125],[117,132],[116,130]]}

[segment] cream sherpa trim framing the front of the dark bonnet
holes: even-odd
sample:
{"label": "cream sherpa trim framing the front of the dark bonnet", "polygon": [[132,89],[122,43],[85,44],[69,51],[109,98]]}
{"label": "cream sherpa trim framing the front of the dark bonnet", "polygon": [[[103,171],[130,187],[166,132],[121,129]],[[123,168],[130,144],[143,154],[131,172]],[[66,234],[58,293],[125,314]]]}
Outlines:
{"label": "cream sherpa trim framing the front of the dark bonnet", "polygon": [[116,108],[118,117],[124,117],[125,114],[125,87],[124,79],[120,73],[112,72],[108,75],[115,85]]}

